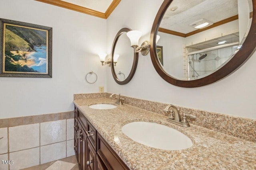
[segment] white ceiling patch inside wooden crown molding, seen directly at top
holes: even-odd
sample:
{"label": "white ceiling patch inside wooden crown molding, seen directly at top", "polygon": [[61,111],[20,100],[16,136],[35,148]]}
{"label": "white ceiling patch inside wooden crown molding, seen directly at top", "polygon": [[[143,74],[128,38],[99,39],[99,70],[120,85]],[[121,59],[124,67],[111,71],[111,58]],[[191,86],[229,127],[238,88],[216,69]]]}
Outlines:
{"label": "white ceiling patch inside wooden crown molding, seen directly at top", "polygon": [[71,4],[105,13],[113,0],[62,0]]}

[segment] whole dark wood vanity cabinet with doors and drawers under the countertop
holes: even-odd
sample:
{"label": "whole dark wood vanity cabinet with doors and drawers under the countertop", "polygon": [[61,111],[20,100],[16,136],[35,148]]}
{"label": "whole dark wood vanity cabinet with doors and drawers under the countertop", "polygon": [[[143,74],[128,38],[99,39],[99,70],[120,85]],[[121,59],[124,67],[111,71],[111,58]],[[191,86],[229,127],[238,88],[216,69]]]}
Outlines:
{"label": "whole dark wood vanity cabinet with doors and drawers under the countertop", "polygon": [[75,106],[74,150],[80,170],[129,170]]}

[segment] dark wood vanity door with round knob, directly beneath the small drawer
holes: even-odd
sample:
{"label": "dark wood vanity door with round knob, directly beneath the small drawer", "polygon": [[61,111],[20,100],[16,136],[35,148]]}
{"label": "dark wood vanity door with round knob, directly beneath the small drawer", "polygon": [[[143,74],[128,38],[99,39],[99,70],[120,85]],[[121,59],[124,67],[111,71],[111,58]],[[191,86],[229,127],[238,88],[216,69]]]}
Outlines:
{"label": "dark wood vanity door with round knob, directly beneath the small drawer", "polygon": [[88,170],[95,170],[96,169],[96,151],[94,150],[94,147],[92,146],[92,143],[87,138],[86,140],[86,164]]}

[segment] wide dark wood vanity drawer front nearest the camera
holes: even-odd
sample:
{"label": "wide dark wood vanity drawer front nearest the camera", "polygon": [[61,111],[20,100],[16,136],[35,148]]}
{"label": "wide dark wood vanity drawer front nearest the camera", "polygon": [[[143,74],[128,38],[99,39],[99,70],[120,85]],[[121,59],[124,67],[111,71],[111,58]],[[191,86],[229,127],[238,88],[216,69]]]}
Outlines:
{"label": "wide dark wood vanity drawer front nearest the camera", "polygon": [[107,169],[129,170],[124,162],[119,158],[116,152],[106,143],[106,141],[97,135],[97,152]]}

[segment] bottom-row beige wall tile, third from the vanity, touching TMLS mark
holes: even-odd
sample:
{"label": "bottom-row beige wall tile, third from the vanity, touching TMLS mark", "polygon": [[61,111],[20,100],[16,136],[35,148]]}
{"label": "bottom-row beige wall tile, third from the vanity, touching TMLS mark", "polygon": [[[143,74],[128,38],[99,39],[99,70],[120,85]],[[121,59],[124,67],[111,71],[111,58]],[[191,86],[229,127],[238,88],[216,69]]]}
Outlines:
{"label": "bottom-row beige wall tile, third from the vanity, touching TMLS mark", "polygon": [[10,160],[13,160],[14,164],[10,165],[10,170],[19,170],[22,168],[39,165],[39,156],[39,147],[12,152],[10,153]]}

